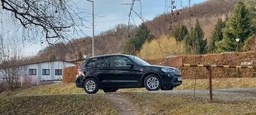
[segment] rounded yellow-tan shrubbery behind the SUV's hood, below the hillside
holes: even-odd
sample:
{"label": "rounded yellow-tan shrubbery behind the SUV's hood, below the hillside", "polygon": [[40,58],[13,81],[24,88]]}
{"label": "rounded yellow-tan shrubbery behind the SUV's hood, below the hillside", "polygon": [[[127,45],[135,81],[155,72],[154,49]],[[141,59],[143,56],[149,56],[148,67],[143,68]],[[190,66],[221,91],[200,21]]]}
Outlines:
{"label": "rounded yellow-tan shrubbery behind the SUV's hood, below the hillside", "polygon": [[183,53],[185,53],[183,41],[177,42],[175,38],[162,35],[160,38],[145,43],[137,56],[142,59],[162,59],[169,55]]}

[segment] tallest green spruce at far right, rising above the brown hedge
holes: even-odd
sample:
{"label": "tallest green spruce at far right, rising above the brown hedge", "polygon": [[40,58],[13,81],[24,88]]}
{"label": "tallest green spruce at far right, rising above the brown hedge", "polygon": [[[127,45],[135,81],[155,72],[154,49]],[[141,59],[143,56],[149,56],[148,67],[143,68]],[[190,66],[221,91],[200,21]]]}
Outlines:
{"label": "tallest green spruce at far right, rising above the brown hedge", "polygon": [[240,38],[240,42],[243,44],[251,32],[251,18],[248,10],[242,2],[238,2],[232,16],[227,20],[223,32],[224,38],[217,44],[218,52],[235,51],[236,45],[239,44],[235,41],[236,38]]}

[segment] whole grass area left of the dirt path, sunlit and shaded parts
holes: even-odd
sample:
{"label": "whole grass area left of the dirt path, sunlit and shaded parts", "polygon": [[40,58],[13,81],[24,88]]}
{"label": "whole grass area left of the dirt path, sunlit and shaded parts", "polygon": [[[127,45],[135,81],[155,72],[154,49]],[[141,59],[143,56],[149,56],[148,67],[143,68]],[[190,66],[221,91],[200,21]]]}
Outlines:
{"label": "whole grass area left of the dirt path, sunlit and shaded parts", "polygon": [[84,89],[69,83],[2,92],[0,114],[117,114],[117,110],[102,95],[85,95]]}

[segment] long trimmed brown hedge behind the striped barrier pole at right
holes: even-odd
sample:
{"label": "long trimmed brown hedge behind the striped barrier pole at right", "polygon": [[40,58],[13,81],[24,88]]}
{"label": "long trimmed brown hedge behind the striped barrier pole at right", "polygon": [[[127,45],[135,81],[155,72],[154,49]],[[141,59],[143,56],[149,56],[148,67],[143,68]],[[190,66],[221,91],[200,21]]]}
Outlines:
{"label": "long trimmed brown hedge behind the striped barrier pole at right", "polygon": [[[176,56],[183,59],[183,64],[209,64],[209,65],[244,65],[246,62],[255,65],[256,53],[219,53],[207,55],[191,55],[191,56]],[[170,58],[148,60],[151,64],[170,65]],[[181,74],[184,79],[198,78],[205,79],[209,77],[206,68],[202,67],[178,67],[181,69]],[[256,69],[253,68],[212,68],[214,78],[227,77],[255,77]]]}

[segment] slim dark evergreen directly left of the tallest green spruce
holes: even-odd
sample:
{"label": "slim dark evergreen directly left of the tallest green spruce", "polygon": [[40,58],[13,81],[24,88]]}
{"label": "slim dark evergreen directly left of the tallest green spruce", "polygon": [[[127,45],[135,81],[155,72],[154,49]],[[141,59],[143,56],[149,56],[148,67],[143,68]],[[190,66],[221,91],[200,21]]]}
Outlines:
{"label": "slim dark evergreen directly left of the tallest green spruce", "polygon": [[217,50],[216,42],[222,40],[223,38],[222,29],[224,29],[224,27],[225,27],[225,23],[221,19],[218,19],[215,25],[215,29],[212,32],[212,37],[208,44],[209,53],[215,53],[215,51]]}

